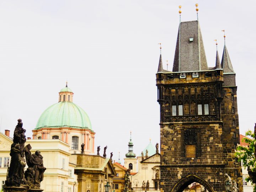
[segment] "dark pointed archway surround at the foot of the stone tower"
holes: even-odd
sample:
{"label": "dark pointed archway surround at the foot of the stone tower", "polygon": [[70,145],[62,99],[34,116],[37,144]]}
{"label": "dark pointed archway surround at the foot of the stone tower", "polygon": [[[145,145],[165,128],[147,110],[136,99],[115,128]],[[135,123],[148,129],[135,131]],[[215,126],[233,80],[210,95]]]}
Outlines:
{"label": "dark pointed archway surround at the foot of the stone tower", "polygon": [[209,185],[207,181],[205,181],[203,178],[194,174],[187,175],[185,177],[182,177],[180,180],[178,180],[178,182],[172,188],[171,192],[182,192],[188,185],[190,185],[193,182],[200,183],[209,192],[214,192],[212,187]]}

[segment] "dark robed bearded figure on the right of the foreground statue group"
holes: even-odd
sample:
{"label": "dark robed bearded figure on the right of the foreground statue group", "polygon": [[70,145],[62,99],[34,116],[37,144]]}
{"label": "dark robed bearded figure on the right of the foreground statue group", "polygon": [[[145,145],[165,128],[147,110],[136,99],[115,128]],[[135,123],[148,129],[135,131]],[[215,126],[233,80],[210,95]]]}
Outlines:
{"label": "dark robed bearded figure on the right of the foreground statue group", "polygon": [[[28,146],[28,145],[27,145]],[[43,174],[46,168],[43,166],[43,156],[40,154],[40,151],[31,154],[28,147],[25,147],[25,156],[28,167],[31,167],[34,171],[33,184],[34,188],[40,188],[40,183],[43,181]]]}

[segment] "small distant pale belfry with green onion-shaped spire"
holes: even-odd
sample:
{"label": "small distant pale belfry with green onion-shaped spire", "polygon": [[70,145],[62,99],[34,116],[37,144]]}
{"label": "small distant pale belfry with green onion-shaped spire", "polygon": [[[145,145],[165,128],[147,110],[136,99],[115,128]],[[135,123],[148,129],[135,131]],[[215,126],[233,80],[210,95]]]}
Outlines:
{"label": "small distant pale belfry with green onion-shaped spire", "polygon": [[131,172],[133,172],[133,173],[137,172],[137,158],[136,158],[136,154],[133,153],[132,132],[130,132],[128,153],[126,154],[126,158],[124,158],[124,167],[126,169],[130,169]]}

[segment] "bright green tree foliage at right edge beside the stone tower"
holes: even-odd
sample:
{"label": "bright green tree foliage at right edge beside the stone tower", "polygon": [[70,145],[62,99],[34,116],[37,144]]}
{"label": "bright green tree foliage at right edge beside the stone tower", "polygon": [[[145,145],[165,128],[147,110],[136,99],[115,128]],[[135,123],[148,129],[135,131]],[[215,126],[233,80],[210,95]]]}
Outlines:
{"label": "bright green tree foliage at right edge beside the stone tower", "polygon": [[[235,153],[236,157],[238,158],[238,161],[241,162],[241,160],[244,163],[245,169],[250,168],[253,172],[256,171],[256,161],[255,161],[255,143],[256,140],[254,139],[254,133],[249,130],[245,133],[245,136],[250,136],[250,138],[243,138],[243,142],[247,143],[248,146],[241,146],[238,145],[237,151]],[[250,177],[245,178],[247,182],[252,182],[252,179]],[[254,184],[254,192],[256,192],[256,185]]]}

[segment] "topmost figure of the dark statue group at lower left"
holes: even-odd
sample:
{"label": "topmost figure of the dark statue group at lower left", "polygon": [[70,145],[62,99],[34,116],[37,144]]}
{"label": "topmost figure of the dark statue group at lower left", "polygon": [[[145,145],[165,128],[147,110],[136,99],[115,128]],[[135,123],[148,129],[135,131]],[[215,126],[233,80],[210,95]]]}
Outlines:
{"label": "topmost figure of the dark statue group at lower left", "polygon": [[21,156],[24,157],[23,148],[26,142],[26,135],[25,135],[26,129],[23,129],[22,126],[23,126],[22,119],[18,119],[18,124],[14,129],[13,142],[16,144],[17,143],[20,144]]}

